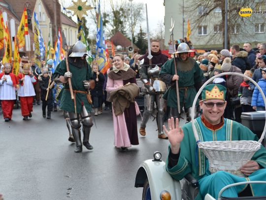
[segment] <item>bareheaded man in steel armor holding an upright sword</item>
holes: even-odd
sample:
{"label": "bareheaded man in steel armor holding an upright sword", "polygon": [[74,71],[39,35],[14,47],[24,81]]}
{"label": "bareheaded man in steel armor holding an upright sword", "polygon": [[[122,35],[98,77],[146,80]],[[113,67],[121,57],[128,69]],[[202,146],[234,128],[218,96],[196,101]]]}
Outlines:
{"label": "bareheaded man in steel armor holding an upright sword", "polygon": [[[167,139],[164,134],[164,111],[163,111],[163,94],[166,91],[166,85],[164,82],[159,80],[160,67],[168,60],[168,57],[162,54],[160,50],[160,44],[158,41],[151,43],[151,60],[148,58],[148,53],[140,57],[139,60],[144,59],[143,64],[140,66],[139,75],[142,83],[145,86],[145,111],[143,119],[140,124],[139,133],[142,136],[146,135],[146,124],[153,113],[154,104],[156,102],[157,109],[157,127],[158,127],[158,138]],[[150,62],[151,61],[151,62]]]}

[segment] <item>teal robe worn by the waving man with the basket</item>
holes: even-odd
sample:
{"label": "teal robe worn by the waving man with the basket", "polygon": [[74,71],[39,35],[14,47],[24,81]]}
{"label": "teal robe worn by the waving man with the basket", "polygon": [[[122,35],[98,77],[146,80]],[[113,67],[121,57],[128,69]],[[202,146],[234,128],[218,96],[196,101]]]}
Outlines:
{"label": "teal robe worn by the waving man with the basket", "polygon": [[[218,130],[210,130],[202,122],[200,117],[196,118],[196,128],[200,141],[238,141],[255,140],[258,138],[247,127],[230,119],[224,119],[224,125]],[[262,168],[255,171],[249,177],[239,177],[225,171],[218,171],[211,174],[209,171],[208,159],[201,150],[197,151],[196,139],[193,134],[192,122],[182,127],[184,139],[180,144],[179,159],[176,166],[168,168],[168,158],[166,160],[166,171],[176,180],[181,180],[187,173],[191,173],[199,181],[200,194],[197,200],[204,199],[208,193],[217,199],[220,190],[231,183],[247,180],[265,180],[266,181],[266,149],[262,146],[251,160],[256,161]],[[170,146],[169,146],[170,148]],[[197,155],[197,157],[196,157]],[[244,190],[246,185],[241,185],[227,189],[223,196],[236,197],[239,192]],[[255,196],[266,195],[266,185],[252,184],[251,190]]]}

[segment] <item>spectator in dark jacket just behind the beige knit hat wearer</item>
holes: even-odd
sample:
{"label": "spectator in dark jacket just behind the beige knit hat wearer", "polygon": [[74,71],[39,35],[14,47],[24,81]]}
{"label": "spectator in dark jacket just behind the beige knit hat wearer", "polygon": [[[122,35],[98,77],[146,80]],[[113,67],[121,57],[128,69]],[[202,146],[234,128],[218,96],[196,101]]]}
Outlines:
{"label": "spectator in dark jacket just behind the beige knit hat wearer", "polygon": [[232,65],[241,69],[242,73],[250,69],[249,63],[247,62],[248,53],[246,51],[239,51],[239,45],[234,44],[231,47],[231,53],[233,55]]}

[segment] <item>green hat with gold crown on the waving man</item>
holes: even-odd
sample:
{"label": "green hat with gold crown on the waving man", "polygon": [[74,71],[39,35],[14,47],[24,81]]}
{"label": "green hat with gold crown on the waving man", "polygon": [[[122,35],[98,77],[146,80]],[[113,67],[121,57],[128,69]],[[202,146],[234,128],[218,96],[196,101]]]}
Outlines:
{"label": "green hat with gold crown on the waving man", "polygon": [[225,100],[226,97],[226,87],[222,85],[215,85],[210,84],[205,86],[202,89],[201,98],[202,101],[208,100],[208,99],[221,99]]}

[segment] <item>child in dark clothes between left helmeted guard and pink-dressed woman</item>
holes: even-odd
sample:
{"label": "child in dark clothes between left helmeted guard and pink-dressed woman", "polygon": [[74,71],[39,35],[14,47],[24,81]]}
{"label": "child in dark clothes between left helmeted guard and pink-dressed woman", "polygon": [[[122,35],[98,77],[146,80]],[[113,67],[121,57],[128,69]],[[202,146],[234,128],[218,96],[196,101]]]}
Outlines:
{"label": "child in dark clothes between left helmeted guard and pink-dressed woman", "polygon": [[95,87],[90,92],[93,99],[93,106],[95,108],[94,115],[97,116],[98,114],[102,114],[102,111],[100,111],[100,107],[101,107],[101,100],[103,97],[103,82],[105,78],[103,74],[99,72],[97,62],[92,63],[92,73],[93,73],[93,80],[95,81]]}

